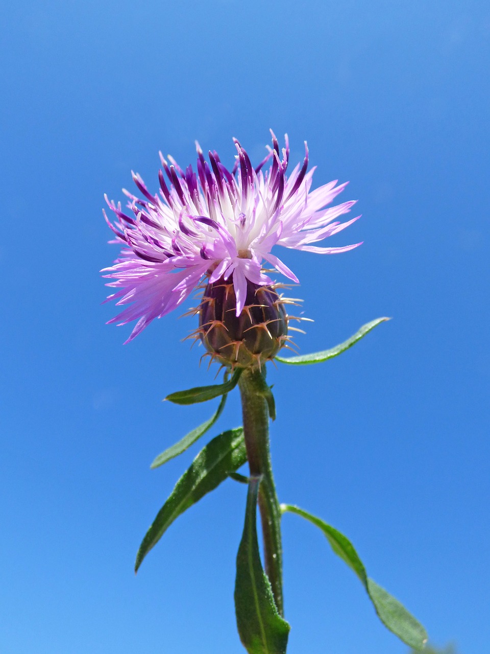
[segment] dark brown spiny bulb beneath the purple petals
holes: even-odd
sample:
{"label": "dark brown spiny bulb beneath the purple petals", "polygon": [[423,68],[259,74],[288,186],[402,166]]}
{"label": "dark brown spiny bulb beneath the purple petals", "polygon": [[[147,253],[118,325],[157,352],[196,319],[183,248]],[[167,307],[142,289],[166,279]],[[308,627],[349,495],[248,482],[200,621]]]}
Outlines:
{"label": "dark brown spiny bulb beneath the purple petals", "polygon": [[274,286],[248,281],[246,301],[237,316],[231,281],[208,284],[199,310],[199,337],[212,360],[232,368],[260,368],[287,341],[285,301]]}

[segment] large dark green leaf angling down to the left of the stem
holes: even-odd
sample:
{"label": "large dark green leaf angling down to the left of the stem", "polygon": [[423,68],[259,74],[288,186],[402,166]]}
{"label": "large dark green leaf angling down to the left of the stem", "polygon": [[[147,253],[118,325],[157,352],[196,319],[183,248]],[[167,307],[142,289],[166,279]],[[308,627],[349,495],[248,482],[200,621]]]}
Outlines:
{"label": "large dark green leaf angling down to the left of the stem", "polygon": [[246,460],[242,427],[223,432],[203,447],[146,532],[136,557],[135,572],[172,522],[206,493],[214,490],[228,477],[229,472],[238,470]]}

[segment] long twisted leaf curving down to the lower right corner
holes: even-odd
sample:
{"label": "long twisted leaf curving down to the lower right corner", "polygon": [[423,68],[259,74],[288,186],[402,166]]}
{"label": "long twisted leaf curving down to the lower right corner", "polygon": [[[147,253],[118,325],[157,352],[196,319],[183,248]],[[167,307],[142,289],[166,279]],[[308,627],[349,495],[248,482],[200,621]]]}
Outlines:
{"label": "long twisted leaf curving down to the lower right corner", "polygon": [[389,628],[390,631],[396,634],[404,643],[410,645],[410,647],[417,650],[423,649],[427,641],[427,632],[425,629],[397,599],[387,593],[381,586],[378,586],[375,581],[368,578],[363,562],[359,559],[352,543],[344,534],[341,534],[333,526],[327,525],[323,520],[311,513],[303,511],[297,506],[281,504],[281,511],[282,513],[285,511],[297,513],[297,515],[301,515],[301,517],[310,521],[310,523],[318,526],[327,537],[336,555],[344,560],[361,580],[370,600],[374,604],[378,617],[385,627]]}

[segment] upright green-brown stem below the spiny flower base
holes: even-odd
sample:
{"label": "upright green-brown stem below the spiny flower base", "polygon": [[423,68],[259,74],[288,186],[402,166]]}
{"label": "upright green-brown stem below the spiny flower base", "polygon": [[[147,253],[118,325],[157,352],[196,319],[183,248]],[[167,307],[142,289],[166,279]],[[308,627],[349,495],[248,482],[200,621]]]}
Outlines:
{"label": "upright green-brown stem below the spiny flower base", "polygon": [[281,513],[272,476],[269,449],[269,409],[265,371],[246,369],[238,382],[242,396],[243,428],[250,475],[261,475],[259,510],[264,543],[265,574],[280,615],[284,615],[282,598]]}

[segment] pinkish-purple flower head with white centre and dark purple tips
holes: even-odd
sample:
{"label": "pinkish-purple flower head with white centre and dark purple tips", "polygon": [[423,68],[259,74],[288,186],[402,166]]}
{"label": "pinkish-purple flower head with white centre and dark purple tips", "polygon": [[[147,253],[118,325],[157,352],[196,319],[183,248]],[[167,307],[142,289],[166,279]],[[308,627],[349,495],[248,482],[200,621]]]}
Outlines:
{"label": "pinkish-purple flower head with white centre and dark purple tips", "polygon": [[[347,222],[335,218],[350,211],[355,201],[325,209],[344,190],[337,181],[310,190],[314,169],[307,172],[308,146],[304,162],[286,175],[289,142],[280,151],[272,134],[272,148],[254,169],[248,154],[237,139],[235,165],[229,171],[217,152],[209,152],[210,163],[197,147],[197,174],[191,165],[182,170],[160,153],[163,171],[159,171],[160,192],[152,196],[139,175],[133,181],[142,198],[123,190],[133,215],[123,213],[120,203],[108,201],[116,215],[114,224],[106,222],[116,235],[111,243],[122,245],[120,256],[105,268],[107,286],[116,288],[108,300],[129,305],[108,322],[127,324],[138,320],[126,342],[154,318],[175,309],[203,277],[212,284],[220,279],[233,281],[237,317],[242,313],[248,283],[269,286],[272,280],[262,268],[263,262],[294,282],[296,275],[271,250],[274,245],[306,250],[317,254],[347,252],[361,243],[344,247],[318,247],[360,216]],[[264,166],[269,168],[264,172]]]}

